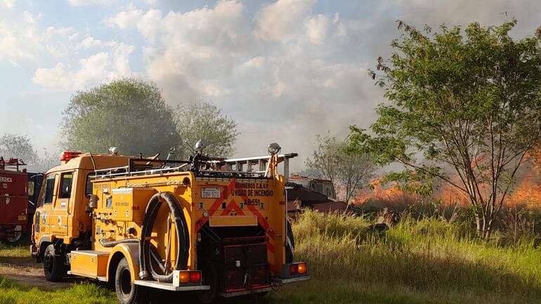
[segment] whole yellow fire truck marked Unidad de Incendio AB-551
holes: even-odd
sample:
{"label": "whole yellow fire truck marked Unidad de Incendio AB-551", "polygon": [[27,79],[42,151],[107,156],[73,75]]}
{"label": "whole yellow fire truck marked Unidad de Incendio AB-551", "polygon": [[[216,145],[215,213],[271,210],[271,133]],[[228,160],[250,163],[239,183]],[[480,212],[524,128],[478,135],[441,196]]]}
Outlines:
{"label": "whole yellow fire truck marked Unidad de Incendio AB-551", "polygon": [[120,303],[148,303],[152,289],[211,303],[308,279],[286,213],[297,154],[276,143],[263,157],[196,151],[186,161],[63,152],[34,216],[32,257],[46,279],[109,282]]}

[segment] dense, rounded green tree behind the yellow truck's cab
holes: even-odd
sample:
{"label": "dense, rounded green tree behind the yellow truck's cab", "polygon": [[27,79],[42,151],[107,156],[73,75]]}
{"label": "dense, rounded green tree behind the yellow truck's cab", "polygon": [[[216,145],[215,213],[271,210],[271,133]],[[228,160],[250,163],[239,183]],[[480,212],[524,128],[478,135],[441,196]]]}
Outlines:
{"label": "dense, rounded green tree behind the yellow truck's cab", "polygon": [[121,154],[159,152],[167,157],[178,147],[173,113],[159,89],[138,79],[119,79],[87,91],[77,91],[63,112],[60,126],[69,150]]}

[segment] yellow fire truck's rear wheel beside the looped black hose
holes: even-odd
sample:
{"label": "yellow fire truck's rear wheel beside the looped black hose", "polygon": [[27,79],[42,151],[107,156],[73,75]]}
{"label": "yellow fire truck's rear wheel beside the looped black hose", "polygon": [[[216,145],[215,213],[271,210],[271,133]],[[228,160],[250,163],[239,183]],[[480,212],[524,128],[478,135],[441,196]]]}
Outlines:
{"label": "yellow fire truck's rear wheel beside the looped black hose", "polygon": [[122,258],[117,266],[115,275],[115,291],[121,304],[145,304],[148,303],[148,293],[143,286],[131,282],[131,272],[128,260]]}

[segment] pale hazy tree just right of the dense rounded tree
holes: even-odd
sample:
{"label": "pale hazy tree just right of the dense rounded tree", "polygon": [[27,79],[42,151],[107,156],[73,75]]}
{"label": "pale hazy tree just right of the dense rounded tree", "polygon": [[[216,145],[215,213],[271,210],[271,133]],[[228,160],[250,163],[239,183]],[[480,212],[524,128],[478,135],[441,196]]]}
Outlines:
{"label": "pale hazy tree just right of the dense rounded tree", "polygon": [[216,157],[229,157],[237,136],[237,122],[227,117],[210,101],[197,100],[179,105],[175,111],[176,126],[181,136],[183,154],[188,157],[198,140],[205,145],[204,152]]}

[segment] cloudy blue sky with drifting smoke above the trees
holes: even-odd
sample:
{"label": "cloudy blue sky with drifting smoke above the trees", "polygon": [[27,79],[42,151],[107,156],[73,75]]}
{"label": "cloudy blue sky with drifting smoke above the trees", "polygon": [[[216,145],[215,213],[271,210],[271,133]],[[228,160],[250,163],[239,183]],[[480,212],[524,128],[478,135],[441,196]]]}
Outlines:
{"label": "cloudy blue sky with drifting smoke above the trees", "polygon": [[505,12],[517,37],[541,25],[533,0],[0,0],[0,133],[57,150],[70,95],[141,77],[174,107],[207,99],[237,119],[239,155],[277,141],[304,159],[316,134],[374,121],[384,99],[367,69],[397,19],[490,25]]}

